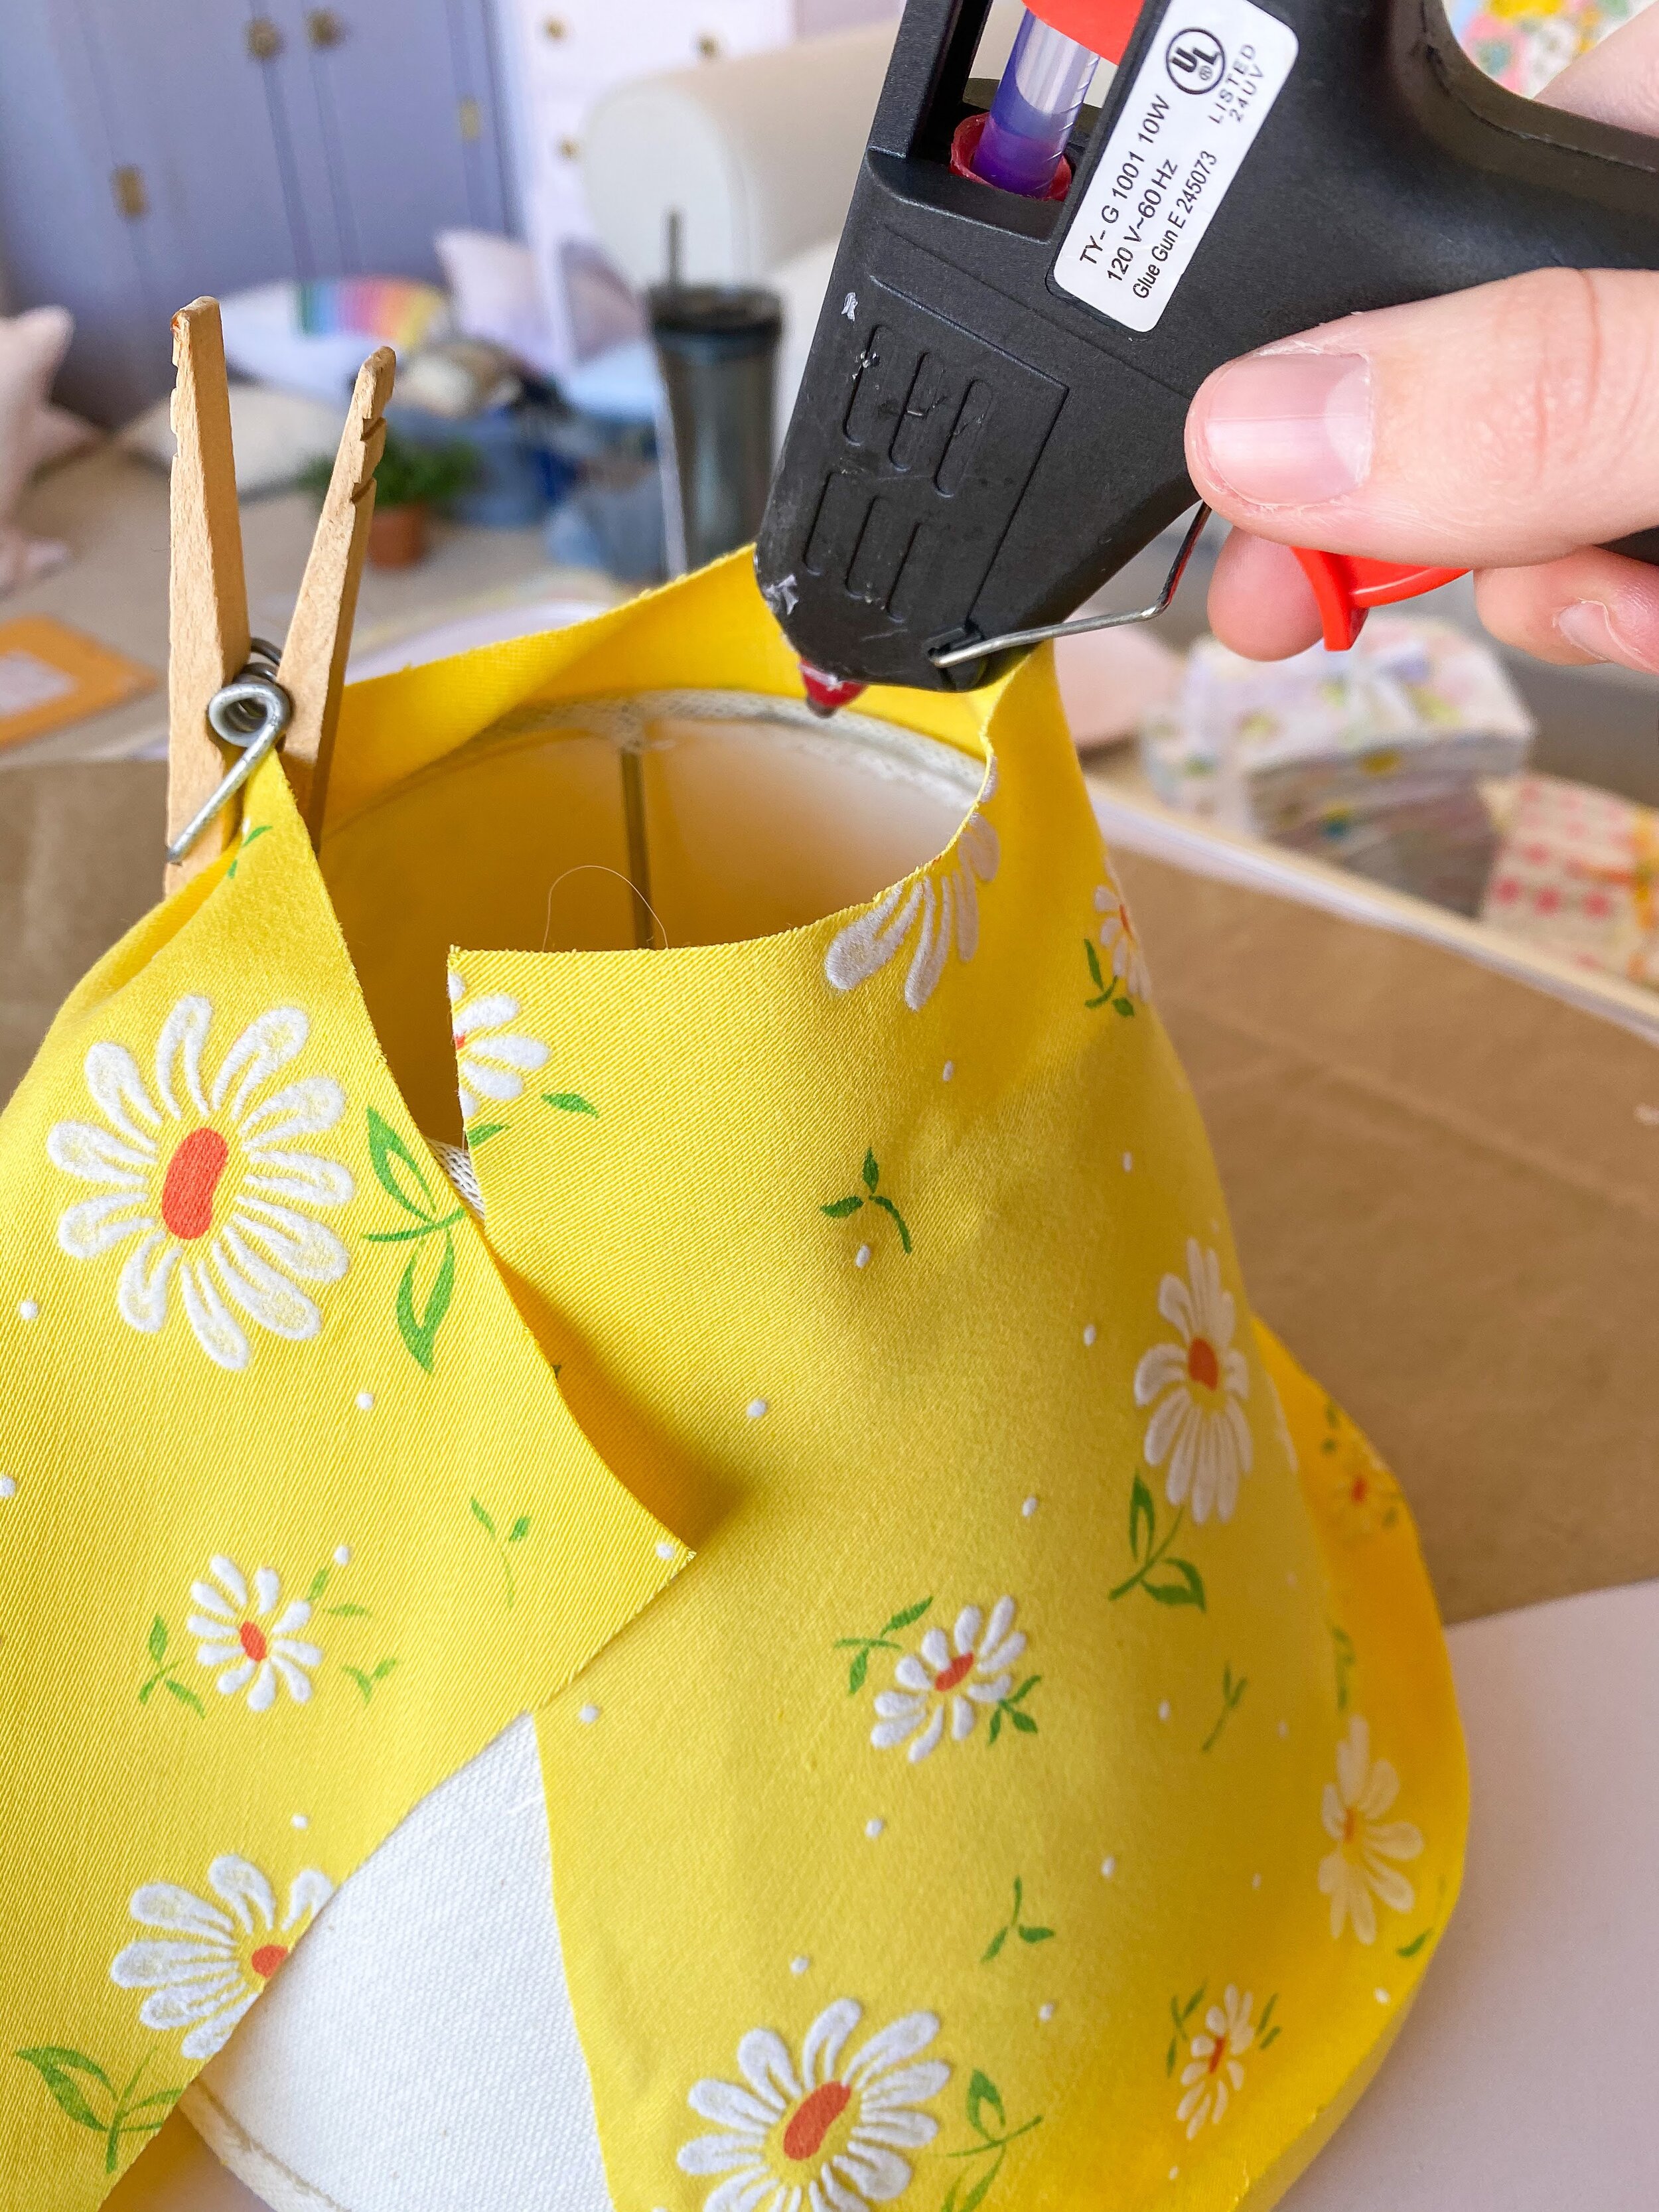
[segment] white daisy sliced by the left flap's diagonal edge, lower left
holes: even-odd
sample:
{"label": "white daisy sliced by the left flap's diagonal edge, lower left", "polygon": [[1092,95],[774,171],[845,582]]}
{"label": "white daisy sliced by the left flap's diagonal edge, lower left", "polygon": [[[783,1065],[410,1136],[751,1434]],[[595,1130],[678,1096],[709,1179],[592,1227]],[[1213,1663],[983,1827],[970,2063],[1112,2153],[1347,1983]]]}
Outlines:
{"label": "white daisy sliced by the left flap's diagonal edge, lower left", "polygon": [[334,1882],[307,1867],[294,1876],[279,1924],[270,1882],[234,1856],[215,1858],[208,1887],[217,1905],[177,1882],[135,1889],[131,1913],[157,1933],[117,1951],[108,1971],[117,1989],[148,1991],[139,2006],[146,2028],[190,2031],[179,2044],[188,2059],[223,2051],[230,2031],[334,1896]]}

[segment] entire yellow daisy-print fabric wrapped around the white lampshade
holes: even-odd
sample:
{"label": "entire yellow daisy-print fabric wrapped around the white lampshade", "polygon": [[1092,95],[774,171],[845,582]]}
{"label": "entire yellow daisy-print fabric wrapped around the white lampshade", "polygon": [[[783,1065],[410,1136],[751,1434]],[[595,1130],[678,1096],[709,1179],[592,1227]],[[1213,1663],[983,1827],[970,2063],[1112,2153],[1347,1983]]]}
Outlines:
{"label": "entire yellow daisy-print fabric wrapped around the white lampshade", "polygon": [[741,560],[347,695],[321,874],[270,765],[0,1121],[42,2203],[526,1705],[615,2208],[1265,2208],[1433,1955],[1416,1537],[1250,1314],[1046,661],[865,701],[964,799],[834,911],[699,843],[699,695],[799,699]]}

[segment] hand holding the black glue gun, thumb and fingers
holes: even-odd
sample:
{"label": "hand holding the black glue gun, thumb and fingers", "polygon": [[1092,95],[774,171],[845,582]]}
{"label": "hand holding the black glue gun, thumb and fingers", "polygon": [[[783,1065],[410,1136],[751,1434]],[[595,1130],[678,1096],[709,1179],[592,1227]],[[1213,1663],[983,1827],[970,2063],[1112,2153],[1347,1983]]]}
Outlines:
{"label": "hand holding the black glue gun, thumb and fingers", "polygon": [[[1659,4],[1544,100],[1659,137]],[[1217,369],[1186,451],[1234,524],[1210,584],[1234,653],[1321,635],[1303,544],[1475,568],[1504,644],[1659,672],[1659,568],[1597,551],[1659,524],[1659,274],[1551,268],[1323,323]]]}

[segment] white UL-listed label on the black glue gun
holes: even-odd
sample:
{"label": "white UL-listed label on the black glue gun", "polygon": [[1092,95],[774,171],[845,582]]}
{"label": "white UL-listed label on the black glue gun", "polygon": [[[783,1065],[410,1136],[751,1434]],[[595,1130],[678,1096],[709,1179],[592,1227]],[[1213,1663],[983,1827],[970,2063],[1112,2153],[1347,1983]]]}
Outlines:
{"label": "white UL-listed label on the black glue gun", "polygon": [[1055,283],[1152,330],[1296,66],[1250,0],[1170,0],[1055,257]]}

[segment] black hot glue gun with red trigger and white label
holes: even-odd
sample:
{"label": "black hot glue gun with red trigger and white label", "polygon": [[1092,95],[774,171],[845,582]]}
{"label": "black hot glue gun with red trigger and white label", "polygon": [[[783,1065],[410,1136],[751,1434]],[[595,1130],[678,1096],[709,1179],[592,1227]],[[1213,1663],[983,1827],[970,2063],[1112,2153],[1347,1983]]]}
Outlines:
{"label": "black hot glue gun with red trigger and white label", "polygon": [[[989,100],[987,11],[905,9],[759,533],[825,708],[1155,613],[1066,624],[1192,504],[1223,361],[1551,263],[1659,268],[1659,144],[1491,84],[1440,0],[1035,0]],[[1659,564],[1659,531],[1619,551]],[[1338,650],[1455,573],[1298,557]]]}

